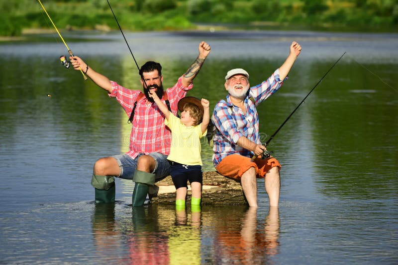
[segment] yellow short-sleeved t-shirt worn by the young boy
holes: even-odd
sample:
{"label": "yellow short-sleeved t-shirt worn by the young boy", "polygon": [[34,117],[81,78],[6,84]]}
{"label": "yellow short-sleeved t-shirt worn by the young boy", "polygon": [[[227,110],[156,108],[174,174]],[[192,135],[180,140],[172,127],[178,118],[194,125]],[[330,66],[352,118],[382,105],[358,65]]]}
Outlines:
{"label": "yellow short-sleeved t-shirt worn by the young boy", "polygon": [[197,126],[186,127],[180,119],[170,113],[169,120],[165,120],[165,125],[171,130],[171,146],[168,160],[184,165],[202,165],[200,157],[200,138],[205,136],[207,130],[202,133],[200,124]]}

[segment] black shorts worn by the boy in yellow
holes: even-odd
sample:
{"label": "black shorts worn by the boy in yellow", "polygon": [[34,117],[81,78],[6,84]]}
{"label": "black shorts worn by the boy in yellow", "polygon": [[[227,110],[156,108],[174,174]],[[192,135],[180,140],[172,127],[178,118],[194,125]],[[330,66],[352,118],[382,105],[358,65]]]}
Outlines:
{"label": "black shorts worn by the boy in yellow", "polygon": [[172,161],[170,163],[171,163],[170,175],[176,189],[188,188],[187,185],[188,181],[190,182],[190,184],[192,184],[193,182],[199,182],[200,185],[202,184],[203,177],[202,177],[201,166],[183,165]]}

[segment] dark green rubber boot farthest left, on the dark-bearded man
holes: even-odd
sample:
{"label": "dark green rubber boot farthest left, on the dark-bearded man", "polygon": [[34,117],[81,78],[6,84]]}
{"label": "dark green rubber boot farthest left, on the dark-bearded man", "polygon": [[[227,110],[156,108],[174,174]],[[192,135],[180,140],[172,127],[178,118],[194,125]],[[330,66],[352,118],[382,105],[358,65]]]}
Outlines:
{"label": "dark green rubber boot farthest left, on the dark-bearded man", "polygon": [[113,176],[93,174],[91,185],[95,190],[96,202],[115,202],[116,186]]}

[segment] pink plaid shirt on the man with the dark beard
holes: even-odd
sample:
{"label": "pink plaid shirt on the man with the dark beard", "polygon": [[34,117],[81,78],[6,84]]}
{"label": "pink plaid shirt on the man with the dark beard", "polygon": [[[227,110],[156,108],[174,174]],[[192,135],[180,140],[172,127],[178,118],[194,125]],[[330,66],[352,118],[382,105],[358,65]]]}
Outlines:
{"label": "pink plaid shirt on the man with the dark beard", "polygon": [[[113,81],[111,83],[112,92],[108,94],[109,97],[116,97],[116,100],[123,107],[127,116],[130,117],[134,102],[140,91],[127,89]],[[166,89],[170,108],[174,115],[177,114],[179,100],[185,97],[187,91],[192,89],[192,87],[192,83],[188,87],[184,87],[181,76],[172,88]],[[165,103],[163,98],[162,102]],[[134,110],[129,151],[126,154],[133,159],[139,153],[149,154],[151,152],[158,152],[169,155],[171,132],[165,126],[164,122],[165,116],[156,104],[149,102],[146,97],[142,97],[137,102],[137,107]]]}

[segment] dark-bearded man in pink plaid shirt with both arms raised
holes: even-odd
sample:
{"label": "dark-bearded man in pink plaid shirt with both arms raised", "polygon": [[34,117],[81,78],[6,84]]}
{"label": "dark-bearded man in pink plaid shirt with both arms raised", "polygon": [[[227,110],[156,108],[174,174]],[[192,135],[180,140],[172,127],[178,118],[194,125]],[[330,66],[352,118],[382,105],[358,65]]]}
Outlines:
{"label": "dark-bearded man in pink plaid shirt with both arms raised", "polygon": [[[209,53],[210,45],[202,41],[199,44],[198,58],[173,87],[166,89],[165,94],[173,114],[177,114],[179,100],[192,89],[192,81]],[[122,155],[100,158],[94,165],[91,184],[95,188],[96,201],[114,202],[114,177],[119,177],[135,181],[132,205],[143,205],[148,187],[154,184],[155,179],[170,174],[167,156],[170,152],[171,132],[164,124],[163,113],[149,97],[149,90],[155,91],[166,104],[162,86],[162,66],[155,62],[147,62],[141,66],[143,95],[139,90],[130,90],[110,81],[77,56],[72,56],[70,59],[76,70],[83,69],[87,76],[108,92],[109,97],[115,97],[129,117],[134,115],[131,121],[129,151]],[[136,103],[135,108],[134,103]]]}

